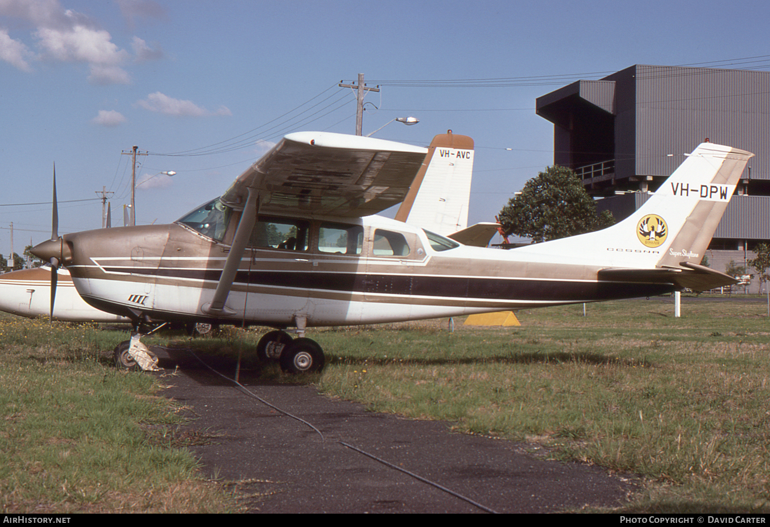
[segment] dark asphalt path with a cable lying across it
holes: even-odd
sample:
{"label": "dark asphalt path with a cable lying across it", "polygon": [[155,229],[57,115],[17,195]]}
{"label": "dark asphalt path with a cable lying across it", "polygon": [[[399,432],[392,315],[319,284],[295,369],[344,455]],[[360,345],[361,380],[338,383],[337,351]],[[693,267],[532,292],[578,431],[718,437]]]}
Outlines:
{"label": "dark asphalt path with a cable lying across it", "polygon": [[[179,441],[206,475],[235,482],[247,512],[563,512],[618,506],[635,488],[633,478],[549,461],[531,445],[453,433],[447,422],[370,412],[312,386],[241,372],[249,392],[280,410],[271,408],[188,352],[154,351],[166,368],[162,394],[191,418]],[[201,359],[233,375],[232,364]]]}

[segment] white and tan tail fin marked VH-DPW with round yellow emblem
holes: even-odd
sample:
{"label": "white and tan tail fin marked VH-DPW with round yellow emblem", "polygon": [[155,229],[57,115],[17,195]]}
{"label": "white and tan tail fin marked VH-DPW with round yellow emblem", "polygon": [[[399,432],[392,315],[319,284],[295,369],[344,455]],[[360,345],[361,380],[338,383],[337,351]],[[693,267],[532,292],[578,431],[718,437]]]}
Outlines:
{"label": "white and tan tail fin marked VH-DPW with round yellow emblem", "polygon": [[730,146],[701,143],[644,205],[620,223],[515,251],[566,256],[575,263],[590,260],[605,267],[601,276],[618,279],[639,277],[631,272],[639,269],[722,275],[698,263],[753,155]]}

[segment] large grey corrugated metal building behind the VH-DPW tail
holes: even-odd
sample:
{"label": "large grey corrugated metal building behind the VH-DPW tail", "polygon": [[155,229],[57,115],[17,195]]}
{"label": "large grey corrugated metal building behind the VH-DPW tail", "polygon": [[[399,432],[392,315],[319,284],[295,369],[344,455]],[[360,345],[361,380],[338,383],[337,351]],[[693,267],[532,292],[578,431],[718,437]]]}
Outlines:
{"label": "large grey corrugated metal building behind the VH-DPW tail", "polygon": [[[709,265],[744,265],[757,243],[770,242],[770,72],[632,65],[538,97],[537,114],[554,123],[554,164],[573,169],[616,220],[706,139],[754,153],[711,240]],[[755,278],[750,290],[758,287]]]}

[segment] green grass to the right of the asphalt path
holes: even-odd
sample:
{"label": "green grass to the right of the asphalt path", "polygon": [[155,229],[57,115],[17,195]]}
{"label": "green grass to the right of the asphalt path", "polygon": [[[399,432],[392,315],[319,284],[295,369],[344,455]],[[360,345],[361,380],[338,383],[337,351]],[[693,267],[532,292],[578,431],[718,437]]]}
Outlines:
{"label": "green grass to the right of the asphalt path", "polygon": [[671,300],[632,300],[591,304],[587,317],[526,310],[513,328],[453,334],[432,321],[312,337],[330,354],[327,394],[639,475],[629,510],[767,512],[765,310],[685,299],[675,318]]}

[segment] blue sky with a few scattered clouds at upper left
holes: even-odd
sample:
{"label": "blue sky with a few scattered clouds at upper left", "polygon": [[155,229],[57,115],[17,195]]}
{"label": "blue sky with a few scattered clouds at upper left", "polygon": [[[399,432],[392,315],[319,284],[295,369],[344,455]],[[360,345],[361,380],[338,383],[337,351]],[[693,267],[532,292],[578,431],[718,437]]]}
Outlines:
{"label": "blue sky with a few scattered clouds at upper left", "polygon": [[[355,96],[337,83],[358,73],[381,89],[364,134],[415,116],[377,137],[474,138],[469,222],[491,221],[553,163],[538,96],[634,64],[770,69],[768,20],[768,2],[742,0],[0,0],[0,253],[10,223],[16,252],[49,237],[49,205],[12,205],[48,203],[54,163],[60,233],[101,226],[102,186],[122,224],[133,145],[151,153],[138,180],[154,176],[137,223],[169,223],[284,133],[354,133]],[[399,82],[439,79],[469,80]],[[162,155],[191,150],[205,155]]]}

